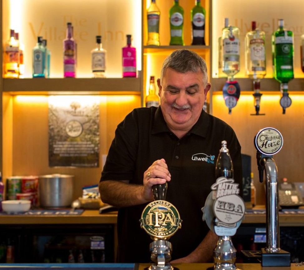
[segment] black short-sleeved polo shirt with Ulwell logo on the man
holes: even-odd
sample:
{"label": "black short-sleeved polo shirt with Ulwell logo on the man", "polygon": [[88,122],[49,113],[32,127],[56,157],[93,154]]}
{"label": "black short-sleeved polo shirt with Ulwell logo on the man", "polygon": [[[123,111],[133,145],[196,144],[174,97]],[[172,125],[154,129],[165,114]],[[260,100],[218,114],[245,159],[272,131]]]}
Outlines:
{"label": "black short-sleeved polo shirt with Ulwell logo on the man", "polygon": [[[160,107],[134,109],[117,126],[100,181],[129,180],[142,184],[143,173],[158,159],[165,159],[171,173],[166,200],[180,213],[181,229],[169,241],[172,260],[187,256],[203,240],[209,228],[201,208],[215,182],[215,165],[221,141],[234,165],[234,179],[242,188],[241,147],[232,128],[202,111],[188,134],[178,139],[167,127]],[[150,262],[150,236],[139,219],[147,204],[118,211],[118,261]]]}

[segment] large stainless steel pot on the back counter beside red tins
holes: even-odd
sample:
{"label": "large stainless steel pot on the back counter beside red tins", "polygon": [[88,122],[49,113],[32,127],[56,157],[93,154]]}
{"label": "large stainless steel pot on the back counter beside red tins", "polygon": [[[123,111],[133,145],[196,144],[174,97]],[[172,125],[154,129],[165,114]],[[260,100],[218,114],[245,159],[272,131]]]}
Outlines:
{"label": "large stainless steel pot on the back counter beside red tins", "polygon": [[70,207],[73,200],[74,175],[49,174],[39,176],[40,206]]}

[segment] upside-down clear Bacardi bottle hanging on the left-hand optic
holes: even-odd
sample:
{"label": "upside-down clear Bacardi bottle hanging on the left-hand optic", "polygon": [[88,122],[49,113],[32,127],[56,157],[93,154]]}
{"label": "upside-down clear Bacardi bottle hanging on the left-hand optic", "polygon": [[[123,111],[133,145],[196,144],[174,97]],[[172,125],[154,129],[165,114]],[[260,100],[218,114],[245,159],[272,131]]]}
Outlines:
{"label": "upside-down clear Bacardi bottle hanging on the left-hand optic", "polygon": [[240,69],[240,30],[236,26],[224,27],[222,31],[222,70],[232,77]]}

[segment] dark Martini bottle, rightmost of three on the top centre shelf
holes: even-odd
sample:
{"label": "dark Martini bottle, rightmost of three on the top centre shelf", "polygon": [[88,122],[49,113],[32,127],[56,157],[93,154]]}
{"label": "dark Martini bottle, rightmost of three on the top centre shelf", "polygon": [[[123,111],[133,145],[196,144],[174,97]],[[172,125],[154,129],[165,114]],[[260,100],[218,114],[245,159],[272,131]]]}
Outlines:
{"label": "dark Martini bottle, rightmost of three on the top centre shelf", "polygon": [[196,0],[195,7],[191,10],[192,44],[205,45],[205,8],[201,6],[200,0]]}

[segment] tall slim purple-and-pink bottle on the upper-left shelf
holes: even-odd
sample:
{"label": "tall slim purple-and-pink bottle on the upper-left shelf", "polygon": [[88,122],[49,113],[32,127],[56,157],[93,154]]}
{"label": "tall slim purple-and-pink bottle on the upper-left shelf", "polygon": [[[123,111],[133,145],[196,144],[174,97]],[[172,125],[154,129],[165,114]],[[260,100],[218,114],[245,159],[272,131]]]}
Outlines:
{"label": "tall slim purple-and-pink bottle on the upper-left shelf", "polygon": [[75,78],[76,46],[73,38],[72,23],[67,23],[66,38],[63,40],[63,67],[64,77]]}

